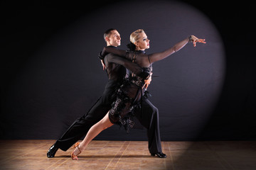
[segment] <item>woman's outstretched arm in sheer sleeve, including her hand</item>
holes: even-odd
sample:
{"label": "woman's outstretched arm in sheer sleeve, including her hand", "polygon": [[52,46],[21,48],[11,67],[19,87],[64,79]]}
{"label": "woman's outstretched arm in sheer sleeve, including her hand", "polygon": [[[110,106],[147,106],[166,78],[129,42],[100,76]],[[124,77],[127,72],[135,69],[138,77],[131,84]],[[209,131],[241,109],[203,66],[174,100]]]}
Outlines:
{"label": "woman's outstretched arm in sheer sleeve, including her hand", "polygon": [[149,60],[151,63],[157,62],[159,60],[163,60],[166,57],[169,57],[169,55],[172,55],[174,52],[177,52],[178,50],[181,50],[188,42],[193,42],[194,47],[196,47],[196,42],[206,43],[204,39],[198,39],[194,35],[190,35],[185,40],[182,40],[181,42],[176,43],[174,47],[171,47],[164,52],[156,52],[151,55],[149,55]]}

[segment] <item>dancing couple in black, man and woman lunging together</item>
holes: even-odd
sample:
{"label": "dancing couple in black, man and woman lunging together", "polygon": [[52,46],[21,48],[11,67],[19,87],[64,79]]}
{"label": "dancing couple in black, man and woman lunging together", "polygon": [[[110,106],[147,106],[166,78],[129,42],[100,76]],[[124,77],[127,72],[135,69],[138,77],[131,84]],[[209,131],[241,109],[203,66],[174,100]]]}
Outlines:
{"label": "dancing couple in black, man and woman lunging together", "polygon": [[[188,42],[206,43],[194,35],[178,42],[164,52],[146,55],[149,49],[149,39],[144,30],[135,30],[130,35],[127,45],[129,50],[118,50],[121,37],[117,30],[109,29],[104,34],[107,47],[100,52],[103,69],[106,69],[108,81],[105,91],[85,115],[75,120],[60,139],[47,152],[47,157],[54,157],[58,149],[68,150],[75,144],[71,153],[72,159],[78,159],[80,154],[102,130],[117,124],[127,132],[133,127],[135,116],[146,128],[149,152],[151,156],[165,158],[162,152],[159,132],[159,111],[147,98],[147,87],[151,81],[152,64],[163,60],[169,55],[181,50]],[[82,142],[77,142],[85,135]]]}

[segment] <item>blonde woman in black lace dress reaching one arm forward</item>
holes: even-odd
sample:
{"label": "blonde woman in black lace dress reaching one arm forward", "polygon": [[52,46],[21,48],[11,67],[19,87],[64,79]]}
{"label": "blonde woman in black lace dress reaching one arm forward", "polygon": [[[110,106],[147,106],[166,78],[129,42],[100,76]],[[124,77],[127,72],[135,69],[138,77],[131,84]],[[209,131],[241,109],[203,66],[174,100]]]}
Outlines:
{"label": "blonde woman in black lace dress reaching one arm forward", "polygon": [[[101,52],[102,57],[108,53],[112,55],[119,55],[121,57],[126,57],[132,62],[136,62],[140,67],[146,72],[152,72],[152,64],[159,60],[163,60],[169,55],[181,50],[188,42],[193,42],[194,47],[196,47],[196,42],[206,43],[203,39],[198,39],[193,35],[190,35],[185,40],[178,42],[174,47],[171,47],[164,52],[156,52],[151,55],[146,55],[144,50],[149,49],[149,39],[144,33],[144,30],[139,29],[135,30],[130,35],[130,43],[127,45],[129,51],[126,50],[117,50],[114,48],[105,47]],[[110,126],[117,123],[124,126],[128,130],[129,126],[133,126],[131,120],[132,111],[134,107],[139,105],[145,89],[149,86],[151,77],[146,81],[144,79],[135,76],[134,74],[129,74],[124,84],[118,89],[117,100],[113,103],[110,111],[105,115],[100,122],[90,128],[85,136],[85,139],[81,143],[77,142],[74,146],[75,150],[71,153],[72,159],[78,159],[78,154],[87,147],[89,142],[96,137],[102,130],[110,128]]]}

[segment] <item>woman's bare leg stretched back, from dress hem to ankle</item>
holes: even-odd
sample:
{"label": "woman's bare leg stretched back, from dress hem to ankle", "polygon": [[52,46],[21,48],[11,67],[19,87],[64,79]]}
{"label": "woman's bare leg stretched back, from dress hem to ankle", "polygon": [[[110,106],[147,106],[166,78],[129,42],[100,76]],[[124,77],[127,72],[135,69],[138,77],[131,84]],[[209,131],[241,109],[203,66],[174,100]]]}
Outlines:
{"label": "woman's bare leg stretched back, from dress hem to ankle", "polygon": [[97,135],[99,135],[99,133],[102,132],[102,130],[110,128],[112,125],[114,124],[110,122],[109,113],[107,113],[105,117],[102,118],[102,120],[93,125],[92,128],[90,128],[90,130],[87,132],[85,139],[82,140],[82,142],[80,142],[80,151],[84,150],[85,147],[87,147],[87,145],[90,143],[90,141],[93,140],[93,138],[95,138]]}

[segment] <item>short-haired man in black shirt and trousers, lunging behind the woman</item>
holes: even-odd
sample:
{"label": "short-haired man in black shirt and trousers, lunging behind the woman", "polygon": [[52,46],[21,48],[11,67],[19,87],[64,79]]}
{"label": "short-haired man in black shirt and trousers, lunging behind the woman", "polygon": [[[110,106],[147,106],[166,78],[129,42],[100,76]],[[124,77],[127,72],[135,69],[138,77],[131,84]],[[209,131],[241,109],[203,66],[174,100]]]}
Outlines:
{"label": "short-haired man in black shirt and trousers, lunging behind the woman", "polygon": [[[107,46],[117,47],[121,44],[121,38],[117,30],[109,29],[104,34]],[[53,146],[47,152],[47,157],[51,158],[55,156],[58,149],[63,151],[68,150],[75,142],[80,140],[80,138],[87,134],[88,130],[100,121],[104,116],[110,111],[111,104],[115,101],[116,90],[122,84],[123,78],[126,74],[126,67],[134,74],[139,75],[139,77],[148,77],[149,74],[143,72],[139,65],[126,60],[122,57],[114,57],[113,55],[107,55],[107,60],[109,61],[107,65],[103,64],[107,70],[107,76],[109,80],[105,86],[105,91],[102,96],[98,99],[90,111],[83,115],[81,118],[75,120],[73,125],[68,128],[59,140],[55,142]],[[143,101],[143,110],[136,111],[137,118],[148,129],[149,136],[149,152],[152,156],[156,154],[157,157],[164,158],[166,154],[161,152],[161,141],[159,135],[159,125],[158,125],[158,110],[155,108],[147,99]]]}

